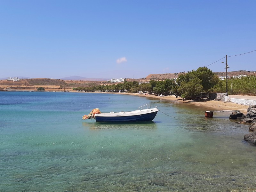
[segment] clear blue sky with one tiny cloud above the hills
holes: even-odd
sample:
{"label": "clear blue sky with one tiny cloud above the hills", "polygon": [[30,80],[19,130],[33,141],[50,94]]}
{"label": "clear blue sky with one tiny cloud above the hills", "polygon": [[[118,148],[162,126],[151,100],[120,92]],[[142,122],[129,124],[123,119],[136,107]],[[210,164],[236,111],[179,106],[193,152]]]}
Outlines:
{"label": "clear blue sky with one tiny cloud above the hills", "polygon": [[[256,1],[0,1],[0,77],[144,78],[256,50]],[[210,66],[225,71],[220,60]],[[256,51],[228,57],[256,71]]]}

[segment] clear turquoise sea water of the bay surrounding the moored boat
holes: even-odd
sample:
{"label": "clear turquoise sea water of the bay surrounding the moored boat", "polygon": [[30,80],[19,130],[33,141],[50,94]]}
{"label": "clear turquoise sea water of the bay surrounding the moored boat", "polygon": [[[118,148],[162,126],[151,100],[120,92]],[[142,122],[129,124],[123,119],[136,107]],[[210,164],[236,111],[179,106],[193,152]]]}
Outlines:
{"label": "clear turquoise sea water of the bay surrounding the moored boat", "polygon": [[[159,109],[150,122],[82,120]],[[125,94],[0,92],[0,191],[256,191],[249,125],[230,113]]]}

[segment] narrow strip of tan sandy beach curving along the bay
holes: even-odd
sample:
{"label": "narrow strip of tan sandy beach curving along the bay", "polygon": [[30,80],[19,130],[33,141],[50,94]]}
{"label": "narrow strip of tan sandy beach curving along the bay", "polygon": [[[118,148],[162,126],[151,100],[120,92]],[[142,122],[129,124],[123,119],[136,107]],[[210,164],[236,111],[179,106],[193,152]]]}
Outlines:
{"label": "narrow strip of tan sandy beach curving along the bay", "polygon": [[[106,93],[109,94],[108,92],[101,92],[101,93]],[[176,98],[174,95],[167,95],[165,97],[160,97],[155,94],[138,94],[138,93],[113,93],[111,94],[126,94],[126,95],[134,95],[138,97],[151,97],[151,98],[156,98],[156,99],[162,99],[162,100],[169,100],[169,101],[175,101],[175,102],[183,102],[183,103],[189,103],[197,106],[202,106],[202,107],[207,107],[209,108],[208,110],[239,110],[242,112],[244,115],[247,113],[247,108],[249,106],[246,105],[240,105],[236,103],[231,103],[231,102],[223,102],[223,101],[215,101],[215,100],[185,100],[183,101],[182,98],[178,97]]]}

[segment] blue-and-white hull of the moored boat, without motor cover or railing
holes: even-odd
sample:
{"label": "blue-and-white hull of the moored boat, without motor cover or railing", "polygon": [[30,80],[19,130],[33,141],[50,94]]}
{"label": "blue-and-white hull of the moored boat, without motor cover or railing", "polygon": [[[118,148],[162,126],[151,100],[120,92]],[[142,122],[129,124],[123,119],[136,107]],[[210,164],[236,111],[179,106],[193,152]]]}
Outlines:
{"label": "blue-and-white hull of the moored boat, without motor cover or railing", "polygon": [[152,121],[158,109],[155,110],[141,110],[137,113],[126,114],[125,112],[120,113],[103,113],[95,114],[94,119],[96,122],[136,122],[136,121]]}

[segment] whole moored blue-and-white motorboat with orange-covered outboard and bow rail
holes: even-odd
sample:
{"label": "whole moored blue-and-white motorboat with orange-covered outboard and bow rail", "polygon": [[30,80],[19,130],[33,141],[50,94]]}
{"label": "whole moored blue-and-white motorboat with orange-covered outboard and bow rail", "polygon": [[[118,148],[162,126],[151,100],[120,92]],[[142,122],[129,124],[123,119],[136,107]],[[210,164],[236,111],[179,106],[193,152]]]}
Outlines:
{"label": "whole moored blue-and-white motorboat with orange-covered outboard and bow rail", "polygon": [[[94,111],[97,111],[95,114]],[[158,109],[151,108],[150,105],[143,105],[135,111],[127,112],[110,112],[101,113],[99,109],[93,109],[88,116],[83,116],[83,119],[94,118],[96,122],[136,122],[136,121],[152,121]]]}

